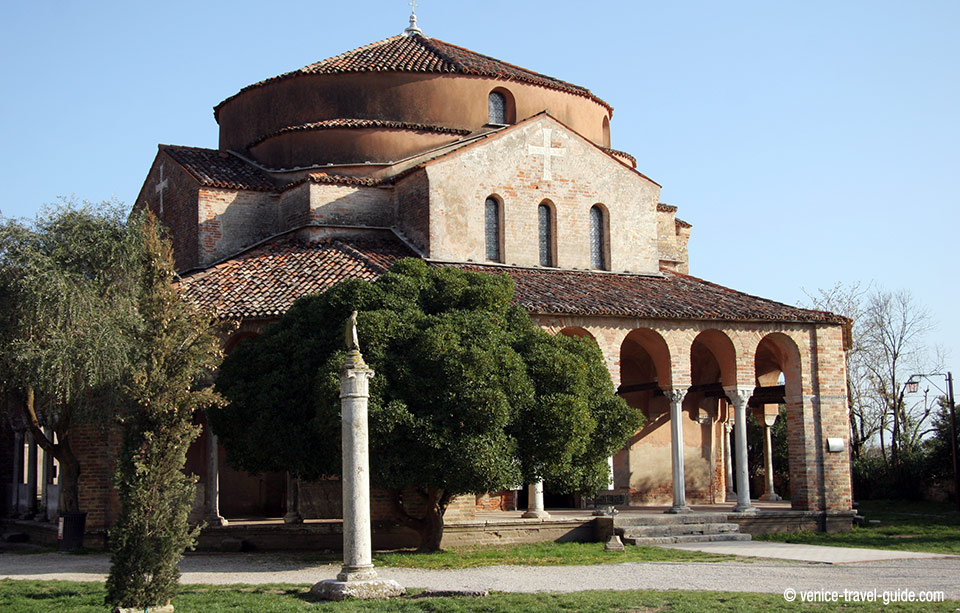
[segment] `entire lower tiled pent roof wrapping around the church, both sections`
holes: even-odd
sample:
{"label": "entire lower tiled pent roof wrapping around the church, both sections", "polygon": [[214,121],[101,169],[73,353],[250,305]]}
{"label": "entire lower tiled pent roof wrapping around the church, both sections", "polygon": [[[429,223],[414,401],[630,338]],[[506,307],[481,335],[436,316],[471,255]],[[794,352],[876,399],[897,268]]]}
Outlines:
{"label": "entire lower tiled pent roof wrapping around the church, both sections", "polygon": [[[265,318],[285,313],[297,298],[348,278],[373,280],[394,261],[415,254],[396,238],[280,238],[185,277],[185,295],[221,317]],[[662,277],[479,264],[437,264],[508,274],[515,300],[528,311],[644,319],[791,321],[843,324],[832,313],[757,298],[695,277]]]}

